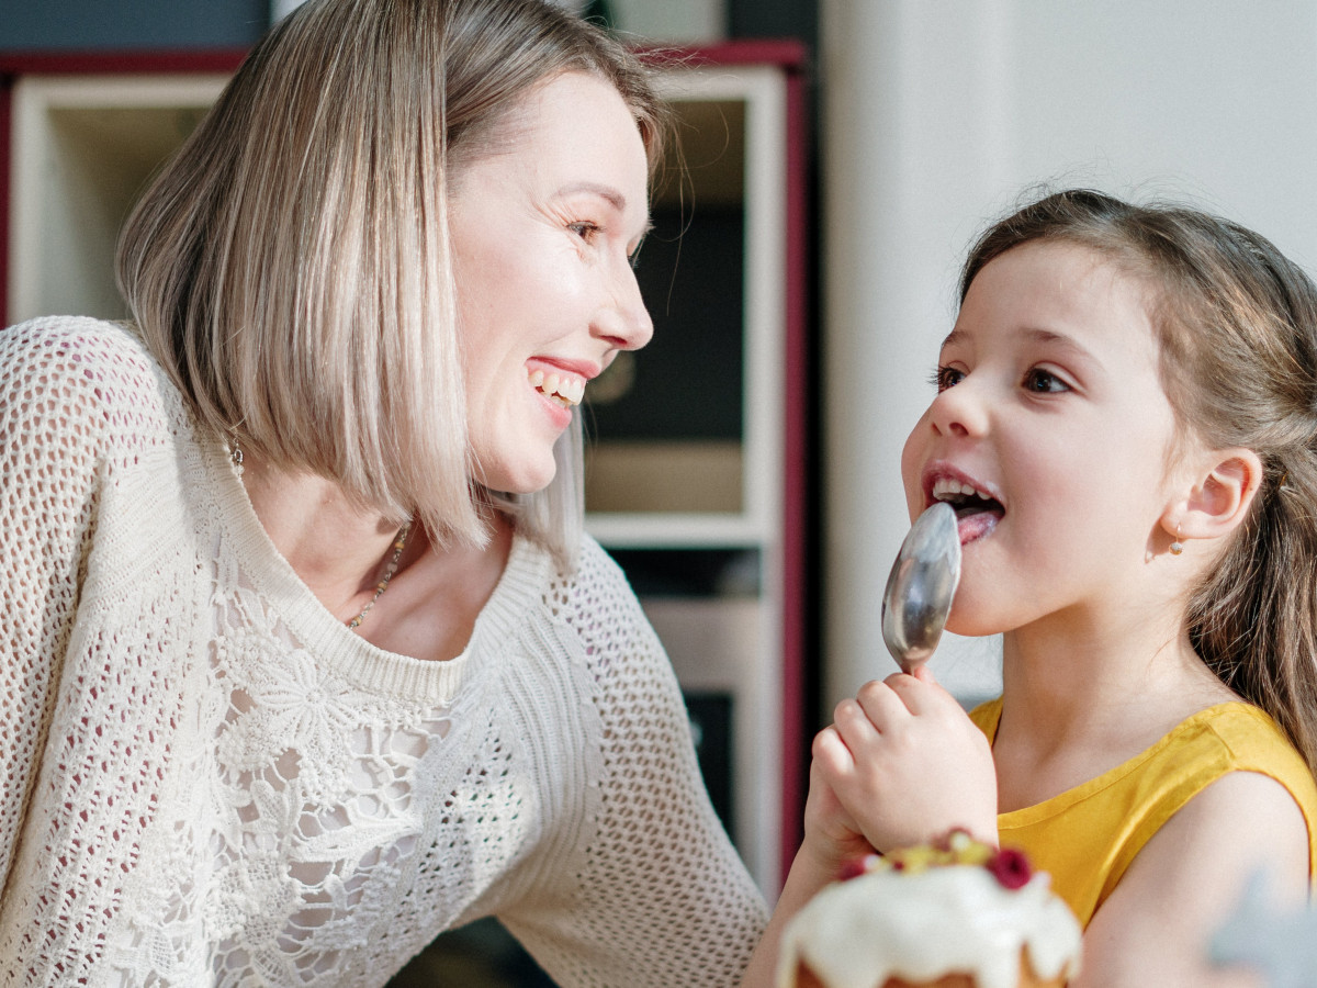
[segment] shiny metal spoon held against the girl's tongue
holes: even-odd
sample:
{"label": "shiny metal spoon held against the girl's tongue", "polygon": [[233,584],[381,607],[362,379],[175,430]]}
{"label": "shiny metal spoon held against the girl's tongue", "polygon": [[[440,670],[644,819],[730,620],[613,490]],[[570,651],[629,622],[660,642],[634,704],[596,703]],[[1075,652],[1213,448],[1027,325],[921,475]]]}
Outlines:
{"label": "shiny metal spoon held against the girl's tongue", "polygon": [[914,672],[938,647],[959,582],[956,512],[938,503],[914,520],[882,591],[882,640],[902,672]]}

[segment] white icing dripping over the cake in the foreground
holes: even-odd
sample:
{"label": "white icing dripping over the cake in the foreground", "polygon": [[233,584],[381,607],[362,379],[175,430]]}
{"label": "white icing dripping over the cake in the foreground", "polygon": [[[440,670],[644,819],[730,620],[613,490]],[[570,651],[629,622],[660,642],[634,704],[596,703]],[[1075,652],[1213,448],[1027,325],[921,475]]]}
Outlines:
{"label": "white icing dripping over the cake in the foreground", "polygon": [[1015,988],[1021,951],[1043,979],[1079,972],[1081,931],[1048,876],[1006,889],[979,865],[872,871],[830,885],[782,937],[778,988],[801,960],[828,988],[878,988],[889,977],[968,974],[979,988]]}

